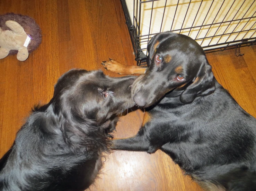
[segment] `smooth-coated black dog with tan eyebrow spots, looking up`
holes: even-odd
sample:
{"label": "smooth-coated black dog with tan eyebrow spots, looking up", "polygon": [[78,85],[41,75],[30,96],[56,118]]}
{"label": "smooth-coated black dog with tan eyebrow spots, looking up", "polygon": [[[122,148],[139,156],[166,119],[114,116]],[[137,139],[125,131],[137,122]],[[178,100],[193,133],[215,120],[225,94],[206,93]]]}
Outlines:
{"label": "smooth-coated black dog with tan eyebrow spots, looking up", "polygon": [[[163,32],[148,52],[148,69],[132,87],[134,102],[147,107],[143,125],[134,137],[114,140],[113,149],[161,149],[206,190],[255,191],[256,119],[215,80],[203,49]],[[115,62],[103,65],[113,71]]]}

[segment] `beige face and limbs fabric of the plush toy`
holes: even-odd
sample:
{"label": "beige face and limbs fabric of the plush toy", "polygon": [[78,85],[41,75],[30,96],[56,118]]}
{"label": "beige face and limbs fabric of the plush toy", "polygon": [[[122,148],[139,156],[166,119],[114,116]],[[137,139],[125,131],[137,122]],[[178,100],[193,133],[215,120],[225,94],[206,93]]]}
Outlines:
{"label": "beige face and limbs fabric of the plush toy", "polygon": [[20,24],[15,21],[6,21],[5,24],[11,30],[2,31],[0,28],[0,59],[7,57],[10,50],[18,50],[17,59],[19,61],[26,60],[28,58],[28,49],[26,45],[26,47],[24,46],[24,43],[29,38],[28,35]]}

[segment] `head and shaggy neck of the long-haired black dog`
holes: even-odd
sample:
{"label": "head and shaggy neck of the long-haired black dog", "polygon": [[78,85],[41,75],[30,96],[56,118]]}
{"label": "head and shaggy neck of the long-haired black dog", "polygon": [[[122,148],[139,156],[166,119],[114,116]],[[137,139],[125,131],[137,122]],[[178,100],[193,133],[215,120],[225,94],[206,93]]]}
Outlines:
{"label": "head and shaggy neck of the long-haired black dog", "polygon": [[51,140],[63,138],[73,152],[107,150],[108,133],[115,129],[118,114],[134,106],[135,78],[72,69],[59,78],[51,101],[35,107],[30,119]]}

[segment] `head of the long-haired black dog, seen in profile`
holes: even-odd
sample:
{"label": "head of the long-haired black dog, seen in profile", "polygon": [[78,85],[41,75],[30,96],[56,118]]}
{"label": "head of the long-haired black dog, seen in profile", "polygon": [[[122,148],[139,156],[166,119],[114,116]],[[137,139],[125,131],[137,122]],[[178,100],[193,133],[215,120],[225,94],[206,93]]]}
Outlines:
{"label": "head of the long-haired black dog, seen in profile", "polygon": [[62,112],[66,118],[103,123],[134,105],[131,98],[134,79],[133,76],[111,78],[102,71],[70,70],[54,87],[54,111]]}

